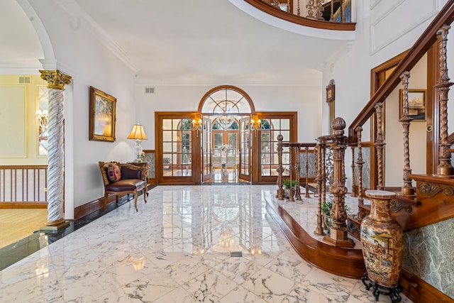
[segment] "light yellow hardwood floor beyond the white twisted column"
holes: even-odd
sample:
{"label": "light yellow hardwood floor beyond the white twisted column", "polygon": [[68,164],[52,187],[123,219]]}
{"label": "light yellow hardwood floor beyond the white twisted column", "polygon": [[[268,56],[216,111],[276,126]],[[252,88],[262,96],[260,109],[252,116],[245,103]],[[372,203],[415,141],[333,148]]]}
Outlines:
{"label": "light yellow hardwood floor beyond the white twisted column", "polygon": [[26,238],[48,221],[48,209],[0,209],[0,248]]}

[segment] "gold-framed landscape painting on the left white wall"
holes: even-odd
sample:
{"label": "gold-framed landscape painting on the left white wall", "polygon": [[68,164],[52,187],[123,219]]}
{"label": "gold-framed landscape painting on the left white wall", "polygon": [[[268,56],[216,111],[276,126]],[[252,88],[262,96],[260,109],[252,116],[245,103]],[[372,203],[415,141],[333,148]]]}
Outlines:
{"label": "gold-framed landscape painting on the left white wall", "polygon": [[90,87],[89,140],[115,141],[116,98]]}

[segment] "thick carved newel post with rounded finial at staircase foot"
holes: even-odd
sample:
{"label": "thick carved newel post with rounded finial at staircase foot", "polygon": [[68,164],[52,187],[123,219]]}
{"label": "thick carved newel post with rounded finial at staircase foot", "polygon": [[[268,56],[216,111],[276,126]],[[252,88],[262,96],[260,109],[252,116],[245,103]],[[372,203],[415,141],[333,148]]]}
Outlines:
{"label": "thick carved newel post with rounded finial at staircase foot", "polygon": [[333,208],[331,209],[331,219],[333,224],[329,229],[329,236],[325,236],[323,241],[338,247],[353,248],[355,243],[347,236],[347,211],[345,211],[345,194],[348,192],[345,187],[345,141],[347,137],[343,136],[345,121],[342,118],[336,118],[333,121],[333,183],[330,184],[329,190],[334,196]]}

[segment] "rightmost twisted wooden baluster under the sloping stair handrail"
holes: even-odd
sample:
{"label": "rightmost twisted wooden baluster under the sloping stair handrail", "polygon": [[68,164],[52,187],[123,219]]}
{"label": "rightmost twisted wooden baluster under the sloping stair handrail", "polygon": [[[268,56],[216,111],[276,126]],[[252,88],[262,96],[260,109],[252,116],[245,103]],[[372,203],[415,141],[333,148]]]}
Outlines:
{"label": "rightmost twisted wooden baluster under the sloping stair handrail", "polygon": [[451,153],[448,142],[448,92],[449,87],[453,85],[448,77],[448,63],[446,60],[446,43],[448,42],[448,31],[450,26],[443,26],[437,31],[438,52],[440,55],[440,72],[438,84],[435,88],[438,92],[438,101],[440,103],[440,131],[441,141],[438,151],[437,175],[454,175],[454,168],[451,165]]}

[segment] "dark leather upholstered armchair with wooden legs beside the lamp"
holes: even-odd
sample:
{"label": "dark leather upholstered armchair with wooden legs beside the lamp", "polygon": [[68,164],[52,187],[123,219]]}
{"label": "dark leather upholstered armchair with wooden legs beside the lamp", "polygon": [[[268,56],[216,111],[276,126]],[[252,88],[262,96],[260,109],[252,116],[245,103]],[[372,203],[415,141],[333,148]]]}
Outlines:
{"label": "dark leather upholstered armchair with wooden legs beside the lamp", "polygon": [[122,194],[134,194],[134,207],[137,209],[138,192],[143,192],[143,199],[147,203],[148,196],[148,165],[135,166],[120,162],[101,162],[102,180],[104,181],[104,204],[102,211],[106,210],[107,198],[110,194],[115,194],[116,204],[118,196]]}

